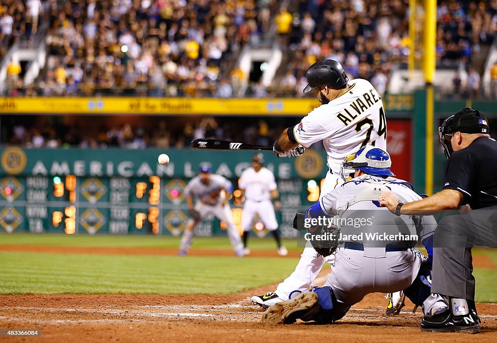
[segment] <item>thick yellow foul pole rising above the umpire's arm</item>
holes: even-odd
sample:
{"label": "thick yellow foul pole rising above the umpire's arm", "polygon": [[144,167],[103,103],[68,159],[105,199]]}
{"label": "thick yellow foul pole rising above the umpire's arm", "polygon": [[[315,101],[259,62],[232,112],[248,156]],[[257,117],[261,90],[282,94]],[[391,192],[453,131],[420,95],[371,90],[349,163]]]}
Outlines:
{"label": "thick yellow foul pole rising above the umpire's arm", "polygon": [[424,0],[423,71],[426,84],[426,169],[425,193],[433,193],[433,77],[436,69],[436,0]]}

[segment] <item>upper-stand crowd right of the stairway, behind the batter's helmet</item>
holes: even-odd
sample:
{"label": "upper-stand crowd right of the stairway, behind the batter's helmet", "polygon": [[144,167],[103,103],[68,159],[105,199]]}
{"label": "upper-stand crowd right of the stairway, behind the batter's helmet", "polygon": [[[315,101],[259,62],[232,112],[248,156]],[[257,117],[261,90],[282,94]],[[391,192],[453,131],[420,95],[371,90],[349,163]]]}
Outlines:
{"label": "upper-stand crowd right of the stairway, behind the batter's helmet", "polygon": [[[286,21],[278,32],[280,46],[289,49],[288,68],[273,81],[272,94],[303,96],[305,71],[322,59],[340,62],[350,78],[368,79],[384,94],[394,66],[408,63],[408,9],[406,0],[299,0],[293,14],[282,8],[279,15]],[[423,15],[418,7],[417,23]],[[420,27],[415,30],[419,36]],[[460,90],[474,92],[472,57],[480,44],[492,43],[496,33],[497,1],[438,1],[437,68],[469,69],[471,76]]]}

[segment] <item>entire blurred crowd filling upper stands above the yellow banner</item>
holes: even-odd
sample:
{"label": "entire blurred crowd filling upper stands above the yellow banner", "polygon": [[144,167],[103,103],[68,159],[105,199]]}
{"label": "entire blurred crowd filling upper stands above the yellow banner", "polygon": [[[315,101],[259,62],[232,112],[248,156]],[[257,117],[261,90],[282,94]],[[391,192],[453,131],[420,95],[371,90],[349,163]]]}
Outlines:
{"label": "entire blurred crowd filling upper stands above the yellow banner", "polygon": [[[383,94],[394,66],[406,66],[408,0],[285,3],[288,8],[277,0],[4,0],[2,47],[15,37],[32,39],[42,20],[48,25],[46,67],[33,84],[23,84],[21,66],[12,63],[7,95],[295,97],[303,96],[308,66],[325,58]],[[420,23],[420,5],[414,16]],[[437,1],[437,66],[469,70],[496,32],[496,0]],[[250,82],[234,66],[237,53],[271,34],[283,67],[269,86]],[[474,92],[470,81],[453,82],[461,93]]]}

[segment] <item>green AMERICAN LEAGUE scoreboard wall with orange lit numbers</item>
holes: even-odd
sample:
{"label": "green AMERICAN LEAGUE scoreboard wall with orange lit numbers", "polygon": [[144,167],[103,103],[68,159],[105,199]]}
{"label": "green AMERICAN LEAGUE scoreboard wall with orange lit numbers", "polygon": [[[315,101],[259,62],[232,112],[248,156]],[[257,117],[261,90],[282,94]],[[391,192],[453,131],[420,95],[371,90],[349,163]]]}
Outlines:
{"label": "green AMERICAN LEAGUE scoreboard wall with orange lit numbers", "polygon": [[[171,162],[157,162],[161,150],[22,149],[0,150],[0,232],[65,234],[179,235],[187,220],[183,190],[200,163],[234,184],[230,201],[240,224],[238,177],[250,166],[247,151],[168,150]],[[323,156],[310,151],[299,161],[267,153],[280,192],[277,211],[284,237],[295,237],[292,221],[319,197]],[[254,220],[254,230],[264,235]],[[203,220],[197,235],[225,234],[217,218]]]}

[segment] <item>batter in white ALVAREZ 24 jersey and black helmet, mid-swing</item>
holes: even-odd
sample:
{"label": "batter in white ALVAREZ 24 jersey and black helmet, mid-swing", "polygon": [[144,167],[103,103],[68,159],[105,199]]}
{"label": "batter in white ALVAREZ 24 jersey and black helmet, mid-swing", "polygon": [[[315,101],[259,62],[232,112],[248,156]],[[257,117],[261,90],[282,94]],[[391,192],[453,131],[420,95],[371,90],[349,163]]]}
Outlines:
{"label": "batter in white ALVAREZ 24 jersey and black helmet, mid-swing", "polygon": [[[302,145],[306,148],[322,141],[328,155],[329,173],[320,197],[341,185],[340,166],[344,158],[366,144],[386,149],[387,122],[381,96],[373,85],[364,79],[349,80],[342,66],[333,60],[323,60],[306,72],[309,84],[304,93],[314,92],[321,102],[301,122],[284,130],[274,142],[278,157],[291,153]],[[333,256],[327,258],[332,262]],[[289,299],[292,292],[302,292],[311,286],[321,271],[325,259],[306,245],[295,271],[281,282],[275,292],[253,296],[250,300],[267,307]]]}

